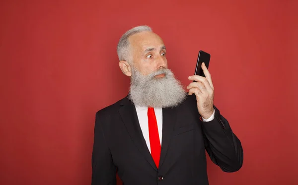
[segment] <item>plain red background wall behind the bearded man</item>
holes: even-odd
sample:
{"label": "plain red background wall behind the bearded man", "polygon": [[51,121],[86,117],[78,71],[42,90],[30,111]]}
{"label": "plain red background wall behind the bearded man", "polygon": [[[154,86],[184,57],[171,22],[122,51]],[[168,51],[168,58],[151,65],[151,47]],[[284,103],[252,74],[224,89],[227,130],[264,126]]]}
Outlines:
{"label": "plain red background wall behind the bearded man", "polygon": [[242,141],[239,172],[208,160],[210,185],[298,184],[295,0],[2,0],[0,184],[88,185],[95,112],[129,79],[116,45],[147,24],[186,86],[211,54],[215,104]]}

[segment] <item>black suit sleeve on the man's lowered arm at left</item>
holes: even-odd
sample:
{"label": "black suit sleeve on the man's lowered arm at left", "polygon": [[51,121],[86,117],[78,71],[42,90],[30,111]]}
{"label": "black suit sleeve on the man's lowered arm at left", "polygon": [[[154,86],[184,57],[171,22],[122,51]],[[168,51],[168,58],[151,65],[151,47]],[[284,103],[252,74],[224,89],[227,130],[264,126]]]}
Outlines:
{"label": "black suit sleeve on the man's lowered arm at left", "polygon": [[98,113],[94,126],[91,185],[116,185],[116,167]]}

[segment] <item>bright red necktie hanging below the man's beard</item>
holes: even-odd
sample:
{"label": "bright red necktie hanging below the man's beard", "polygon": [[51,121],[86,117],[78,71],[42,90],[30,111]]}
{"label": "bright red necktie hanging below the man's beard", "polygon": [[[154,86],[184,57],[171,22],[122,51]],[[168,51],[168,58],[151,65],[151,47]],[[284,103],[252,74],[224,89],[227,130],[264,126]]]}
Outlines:
{"label": "bright red necktie hanging below the man's beard", "polygon": [[154,113],[154,108],[152,107],[148,108],[148,126],[149,126],[151,156],[153,158],[153,161],[156,167],[158,168],[161,146],[160,146],[158,127],[157,127],[156,117]]}

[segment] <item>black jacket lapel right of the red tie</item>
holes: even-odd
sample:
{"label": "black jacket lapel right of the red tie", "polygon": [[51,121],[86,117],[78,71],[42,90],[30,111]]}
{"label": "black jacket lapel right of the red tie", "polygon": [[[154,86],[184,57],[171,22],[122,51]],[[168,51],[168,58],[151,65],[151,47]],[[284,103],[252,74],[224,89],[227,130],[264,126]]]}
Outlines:
{"label": "black jacket lapel right of the red tie", "polygon": [[174,126],[176,124],[177,112],[176,108],[162,109],[162,142],[159,160],[159,168],[161,167],[166,152],[173,135]]}

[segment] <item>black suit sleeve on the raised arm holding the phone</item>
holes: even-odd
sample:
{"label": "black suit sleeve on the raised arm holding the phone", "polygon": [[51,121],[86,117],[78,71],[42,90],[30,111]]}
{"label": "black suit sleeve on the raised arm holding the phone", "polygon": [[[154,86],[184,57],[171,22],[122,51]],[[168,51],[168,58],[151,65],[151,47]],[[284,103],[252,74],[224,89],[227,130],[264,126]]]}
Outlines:
{"label": "black suit sleeve on the raised arm holding the phone", "polygon": [[210,122],[202,122],[206,151],[224,172],[236,172],[243,164],[241,142],[232,132],[228,121],[214,108],[215,118]]}

